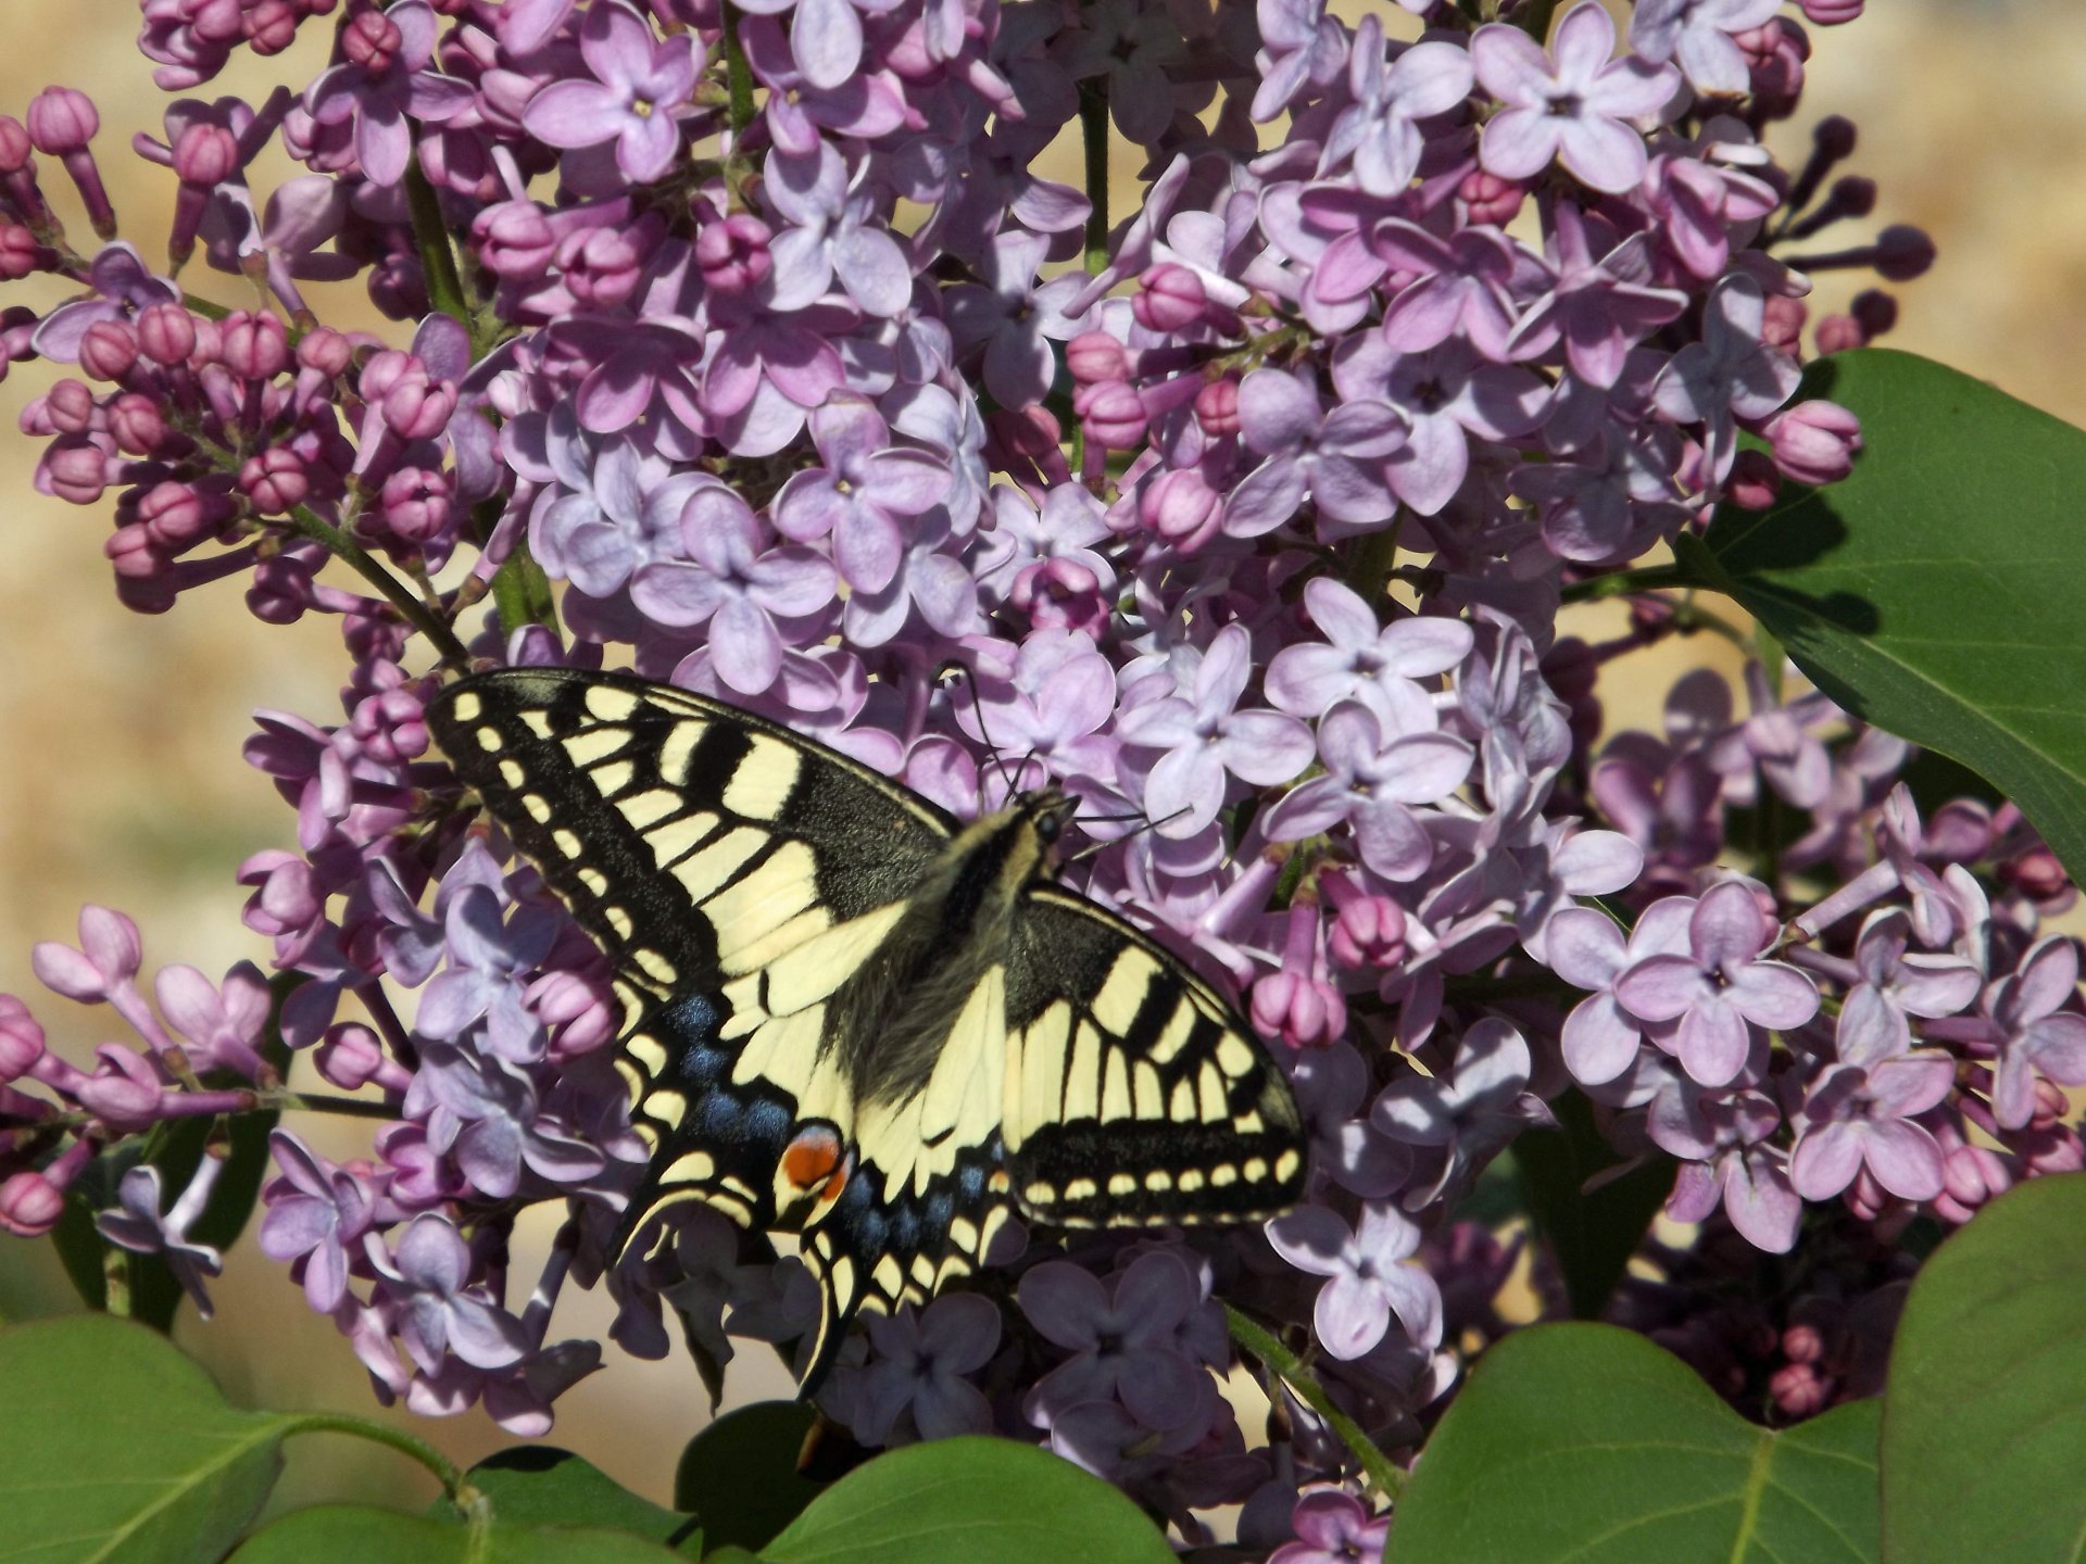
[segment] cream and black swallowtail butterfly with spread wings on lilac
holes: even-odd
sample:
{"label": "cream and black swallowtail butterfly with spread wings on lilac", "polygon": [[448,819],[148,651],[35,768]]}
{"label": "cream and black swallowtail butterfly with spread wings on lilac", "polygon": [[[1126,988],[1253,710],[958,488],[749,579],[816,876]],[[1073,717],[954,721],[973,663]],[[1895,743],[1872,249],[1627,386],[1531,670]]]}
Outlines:
{"label": "cream and black swallowtail butterfly with spread wings on lilac", "polygon": [[607,951],[651,1149],[615,1249],[686,1201],[795,1232],[811,1389],[857,1310],[924,1301],[1012,1214],[1291,1205],[1304,1130],[1237,1009],[1053,882],[1072,799],[964,824],[768,717],[622,674],[446,686],[428,730]]}

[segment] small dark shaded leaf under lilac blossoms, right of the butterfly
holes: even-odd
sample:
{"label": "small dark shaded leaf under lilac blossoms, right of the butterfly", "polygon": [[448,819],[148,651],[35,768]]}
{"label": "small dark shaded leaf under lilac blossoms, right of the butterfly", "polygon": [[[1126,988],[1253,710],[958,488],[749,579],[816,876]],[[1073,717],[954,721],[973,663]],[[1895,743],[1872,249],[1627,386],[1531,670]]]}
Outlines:
{"label": "small dark shaded leaf under lilac blossoms, right of the butterfly", "polygon": [[1514,1166],[1535,1230],[1564,1272],[1573,1316],[1594,1320],[1673,1191],[1673,1157],[1654,1153],[1590,1191],[1587,1180],[1615,1166],[1615,1149],[1594,1124],[1594,1105],[1569,1091],[1550,1109],[1558,1128],[1525,1130],[1514,1141]]}

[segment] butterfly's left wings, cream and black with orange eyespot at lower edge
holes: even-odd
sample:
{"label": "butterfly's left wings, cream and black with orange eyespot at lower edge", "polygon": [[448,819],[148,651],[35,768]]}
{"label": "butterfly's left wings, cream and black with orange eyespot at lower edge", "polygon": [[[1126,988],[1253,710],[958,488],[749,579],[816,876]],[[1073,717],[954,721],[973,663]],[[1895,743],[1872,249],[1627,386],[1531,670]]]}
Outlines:
{"label": "butterfly's left wings, cream and black with orange eyespot at lower edge", "polygon": [[428,726],[615,963],[617,1070],[653,1149],[624,1239],[688,1199],[786,1218],[847,1151],[826,999],[955,822],[778,724],[613,674],[480,674]]}

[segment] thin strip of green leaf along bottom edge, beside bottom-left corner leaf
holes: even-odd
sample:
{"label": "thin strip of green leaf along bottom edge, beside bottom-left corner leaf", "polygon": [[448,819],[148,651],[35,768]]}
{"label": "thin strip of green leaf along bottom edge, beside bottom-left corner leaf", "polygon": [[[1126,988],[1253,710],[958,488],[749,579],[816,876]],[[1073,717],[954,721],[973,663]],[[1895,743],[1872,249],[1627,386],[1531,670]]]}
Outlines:
{"label": "thin strip of green leaf along bottom edge, beside bottom-left corner leaf", "polygon": [[455,1520],[325,1504],[257,1531],[232,1564],[676,1564],[680,1558],[622,1531],[492,1522],[474,1533]]}

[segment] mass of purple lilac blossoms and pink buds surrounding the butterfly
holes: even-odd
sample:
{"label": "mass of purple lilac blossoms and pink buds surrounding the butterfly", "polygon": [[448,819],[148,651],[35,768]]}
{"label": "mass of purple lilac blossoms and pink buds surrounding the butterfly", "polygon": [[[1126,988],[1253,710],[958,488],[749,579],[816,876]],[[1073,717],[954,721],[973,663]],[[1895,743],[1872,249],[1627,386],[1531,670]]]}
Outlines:
{"label": "mass of purple lilac blossoms and pink buds surrounding the butterfly", "polygon": [[[1777,669],[1746,717],[1690,676],[1663,736],[1596,751],[1594,671],[1675,624],[1646,594],[1610,644],[1558,634],[1567,588],[1859,448],[1844,409],[1790,400],[1788,246],[1873,204],[1827,184],[1844,121],[1794,173],[1761,144],[1802,25],[1638,0],[1619,40],[1583,2],[1544,40],[1517,17],[1546,6],[1402,4],[146,0],[175,92],[332,17],[300,94],[184,98],[140,144],[179,184],[169,271],[200,252],[265,288],[252,311],[115,238],[81,94],[0,119],[0,271],[83,290],[0,317],[10,359],[77,367],[27,415],[38,484],[113,492],[134,609],[240,580],[271,624],[340,617],[344,717],[261,713],[246,751],[296,851],[240,880],[298,980],[298,1072],[388,1116],[346,1166],[277,1132],[261,1224],[382,1397],[544,1428],[599,1362],[547,1337],[567,1278],[605,1276],[647,1355],[668,1303],[715,1364],[734,1337],[801,1353],[816,1316],[801,1266],[745,1264],[705,1212],[605,1251],[642,1168],[607,966],[459,817],[434,663],[613,646],[964,815],[1056,782],[1149,822],[1091,826],[1070,882],[1239,995],[1310,1122],[1308,1201],[1264,1232],[1039,1235],[872,1322],[824,1399],[868,1443],[1047,1441],[1189,1541],[1239,1501],[1285,1564],[1381,1539],[1272,1372],[1281,1435],[1247,1447],[1214,1299],[1412,1435],[1456,1380],[1444,1343],[1500,1328],[1510,1253],[1456,1201],[1564,1089],[1619,1155],[1677,1162],[1673,1216],[1763,1249],[1804,1201],[1965,1220],[2086,1162],[2059,1091],[2086,1084],[2078,951],[2038,924],[2073,893],[2019,815],[1921,822],[1905,747]],[[1106,175],[1103,115],[1145,154],[1135,204],[1037,171],[1078,119]],[[305,173],[257,200],[277,144]],[[1925,259],[1888,229],[1811,265]],[[313,317],[298,282],[342,275],[407,346]],[[1892,309],[1865,294],[1813,342]],[[951,659],[974,678],[939,682]],[[1767,801],[1809,824],[1740,867]],[[161,974],[161,1022],[138,970],[94,909],[40,953],[144,1038],[92,1074],[0,997],[10,1230],[163,1118],[328,1105],[265,1064],[259,974]],[[200,1293],[211,1187],[163,1195],[125,1182],[102,1230]],[[517,1308],[507,1235],[549,1199]]]}

